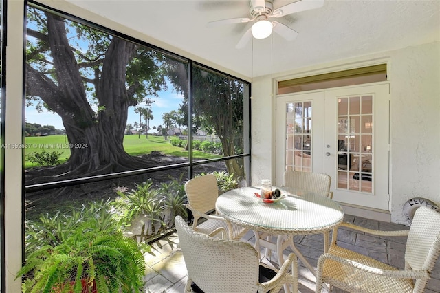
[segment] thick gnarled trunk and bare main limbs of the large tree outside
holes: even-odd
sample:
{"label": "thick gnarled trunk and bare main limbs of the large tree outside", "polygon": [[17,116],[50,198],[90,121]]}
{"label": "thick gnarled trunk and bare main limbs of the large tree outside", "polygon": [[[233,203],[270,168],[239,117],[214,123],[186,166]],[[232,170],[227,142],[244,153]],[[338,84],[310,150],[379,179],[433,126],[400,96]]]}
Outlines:
{"label": "thick gnarled trunk and bare main limbs of the large tree outside", "polygon": [[[65,171],[65,176],[74,177],[133,169],[137,160],[124,151],[122,143],[128,108],[133,105],[126,89],[126,66],[136,45],[119,38],[111,39],[101,72],[96,69],[94,86],[99,110],[95,112],[87,99],[63,19],[50,13],[46,16],[56,82],[27,65],[27,94],[39,96],[61,116],[71,151],[67,164],[47,170],[47,175]],[[137,165],[144,167],[145,162]],[[29,180],[32,182],[32,177]]]}

